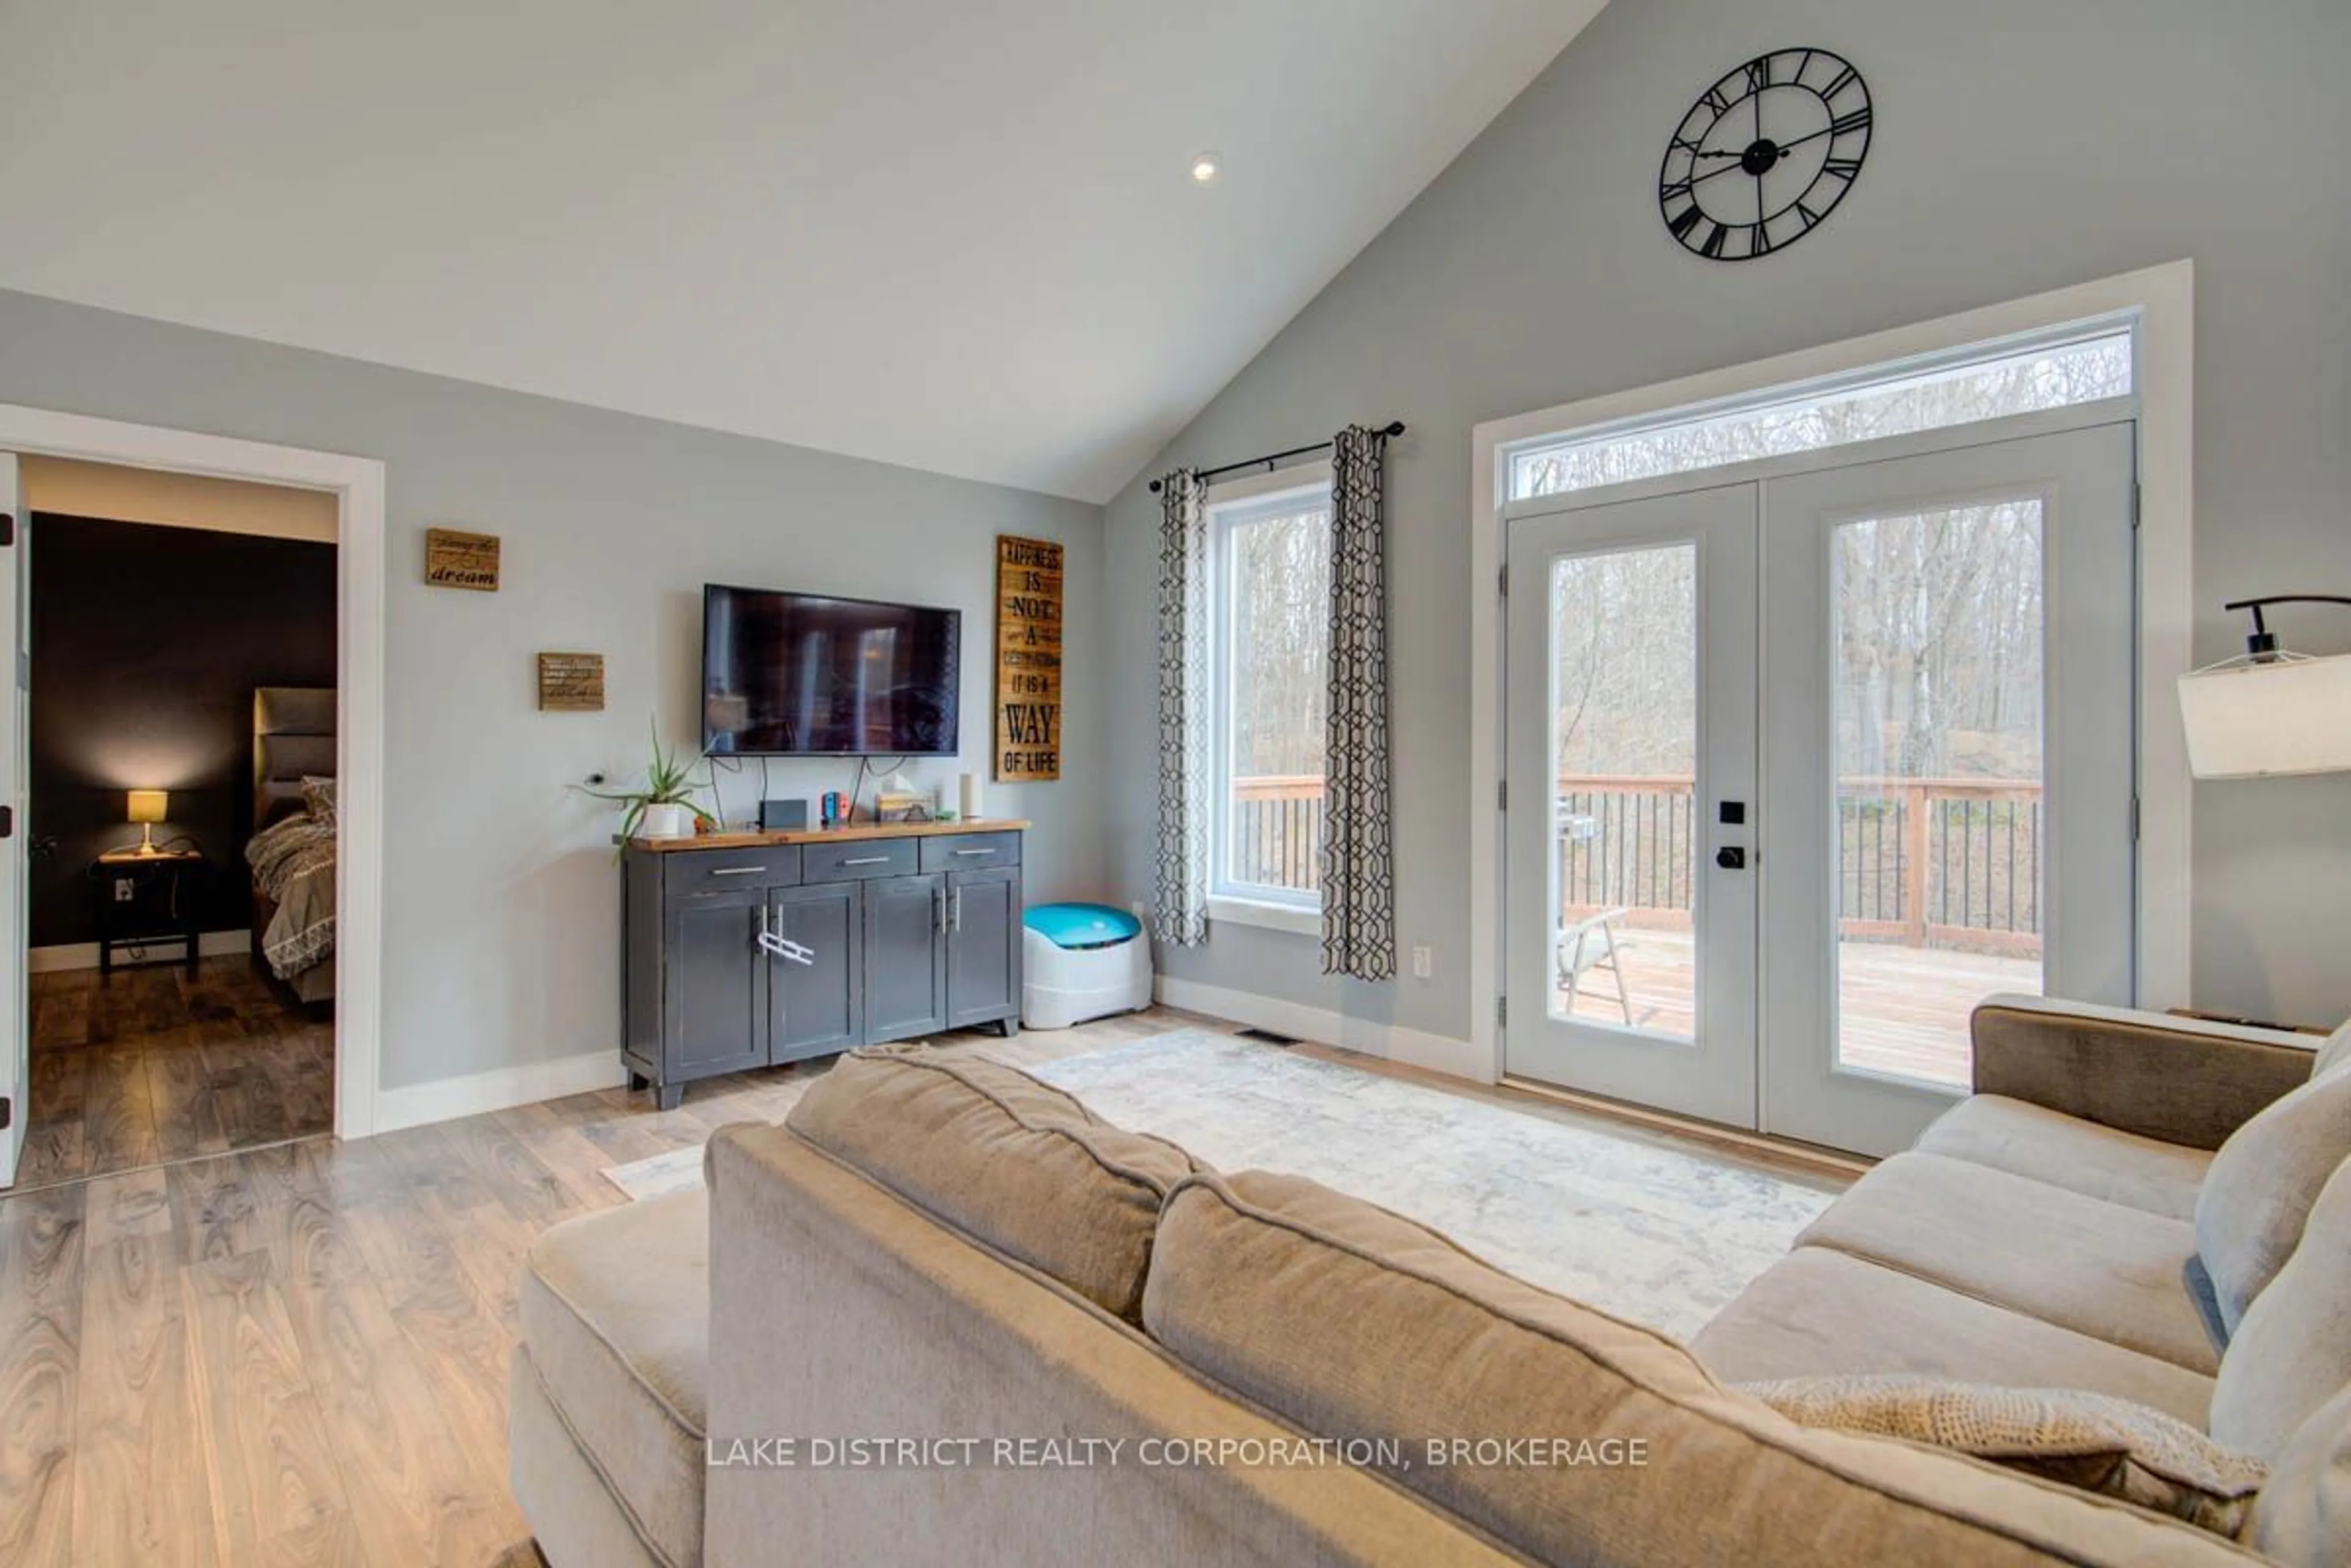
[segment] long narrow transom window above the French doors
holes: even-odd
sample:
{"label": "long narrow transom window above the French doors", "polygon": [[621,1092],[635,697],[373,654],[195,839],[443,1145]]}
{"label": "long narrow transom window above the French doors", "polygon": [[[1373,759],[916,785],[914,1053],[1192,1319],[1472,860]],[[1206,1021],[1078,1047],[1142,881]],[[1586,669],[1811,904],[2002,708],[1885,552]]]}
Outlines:
{"label": "long narrow transom window above the French doors", "polygon": [[1582,430],[1521,447],[1509,458],[1509,498],[1657,480],[1968,425],[2010,414],[2064,409],[2132,390],[2130,324],[2099,322],[2031,343],[1975,346],[1911,369],[1775,388],[1728,407],[1683,409],[1662,421]]}

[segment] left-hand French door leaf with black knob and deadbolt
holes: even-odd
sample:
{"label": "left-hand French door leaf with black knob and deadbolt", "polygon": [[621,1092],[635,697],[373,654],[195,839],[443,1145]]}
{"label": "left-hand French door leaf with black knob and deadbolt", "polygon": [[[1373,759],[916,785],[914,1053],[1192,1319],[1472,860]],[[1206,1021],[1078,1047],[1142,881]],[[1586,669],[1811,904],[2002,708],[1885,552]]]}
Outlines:
{"label": "left-hand French door leaf with black knob and deadbolt", "polygon": [[1721,818],[1756,780],[1756,522],[1733,484],[1509,529],[1507,1067],[1735,1126],[1756,884]]}

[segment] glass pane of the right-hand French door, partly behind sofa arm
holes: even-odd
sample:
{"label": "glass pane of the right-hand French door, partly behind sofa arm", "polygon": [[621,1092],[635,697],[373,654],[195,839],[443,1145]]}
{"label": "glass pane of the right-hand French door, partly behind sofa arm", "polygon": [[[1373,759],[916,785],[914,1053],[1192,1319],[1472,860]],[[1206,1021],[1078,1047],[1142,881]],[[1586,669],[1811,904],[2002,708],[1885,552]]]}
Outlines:
{"label": "glass pane of the right-hand French door, partly behind sofa arm", "polygon": [[1965,1088],[2041,990],[2041,559],[2036,498],[1831,536],[1838,1067]]}

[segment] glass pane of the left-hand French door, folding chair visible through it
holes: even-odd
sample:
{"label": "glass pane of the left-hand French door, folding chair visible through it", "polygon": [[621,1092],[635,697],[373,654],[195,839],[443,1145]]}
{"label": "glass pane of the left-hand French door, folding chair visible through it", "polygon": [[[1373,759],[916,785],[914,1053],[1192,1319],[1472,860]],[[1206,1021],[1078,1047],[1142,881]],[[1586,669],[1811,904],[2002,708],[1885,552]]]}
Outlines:
{"label": "glass pane of the left-hand French door, folding chair visible through it", "polygon": [[1697,545],[1552,564],[1552,1016],[1697,1037]]}

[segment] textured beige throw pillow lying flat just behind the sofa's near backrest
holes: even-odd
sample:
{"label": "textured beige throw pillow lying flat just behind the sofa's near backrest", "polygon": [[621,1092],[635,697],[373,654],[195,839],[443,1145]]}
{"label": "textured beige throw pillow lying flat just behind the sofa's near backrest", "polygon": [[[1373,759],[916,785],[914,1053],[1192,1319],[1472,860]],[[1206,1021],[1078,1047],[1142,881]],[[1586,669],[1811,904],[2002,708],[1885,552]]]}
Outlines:
{"label": "textured beige throw pillow lying flat just behind the sofa's near backrest", "polygon": [[2215,1535],[2245,1528],[2252,1495],[2269,1479],[2269,1465],[2250,1453],[2111,1394],[1900,1375],[1742,1382],[1740,1392],[1799,1427],[1970,1453]]}

